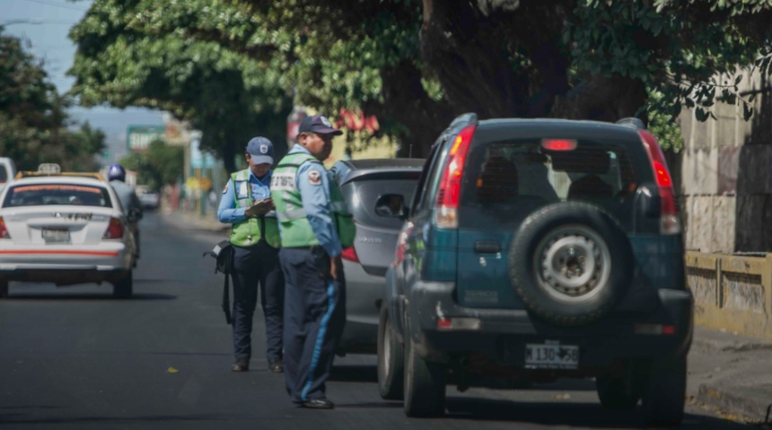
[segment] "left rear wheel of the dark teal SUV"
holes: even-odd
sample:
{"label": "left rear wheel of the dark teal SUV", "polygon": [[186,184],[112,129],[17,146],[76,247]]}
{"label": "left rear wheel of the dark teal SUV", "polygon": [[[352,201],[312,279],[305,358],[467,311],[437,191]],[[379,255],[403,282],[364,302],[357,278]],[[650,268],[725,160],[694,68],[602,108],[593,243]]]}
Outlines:
{"label": "left rear wheel of the dark teal SUV", "polygon": [[446,366],[430,363],[418,355],[405,333],[405,415],[441,417],[445,413]]}

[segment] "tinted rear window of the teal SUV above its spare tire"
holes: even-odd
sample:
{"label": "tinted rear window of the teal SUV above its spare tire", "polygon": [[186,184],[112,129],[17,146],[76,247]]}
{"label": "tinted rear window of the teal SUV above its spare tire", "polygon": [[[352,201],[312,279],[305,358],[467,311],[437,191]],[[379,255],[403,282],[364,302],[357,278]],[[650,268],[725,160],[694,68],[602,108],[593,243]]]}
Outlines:
{"label": "tinted rear window of the teal SUV above its spare tire", "polygon": [[626,145],[573,142],[574,150],[545,150],[541,139],[531,138],[473,145],[463,174],[460,226],[516,226],[540,206],[566,200],[598,204],[627,224],[646,166],[632,161]]}

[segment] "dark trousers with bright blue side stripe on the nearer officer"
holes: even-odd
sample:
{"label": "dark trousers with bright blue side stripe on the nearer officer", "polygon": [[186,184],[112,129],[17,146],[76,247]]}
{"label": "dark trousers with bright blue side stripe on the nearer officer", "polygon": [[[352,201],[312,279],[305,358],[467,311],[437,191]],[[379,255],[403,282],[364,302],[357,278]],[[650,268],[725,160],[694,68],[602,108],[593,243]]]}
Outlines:
{"label": "dark trousers with bright blue side stripe on the nearer officer", "polygon": [[332,280],[329,257],[320,247],[317,251],[282,248],[279,252],[286,280],[285,383],[295,405],[326,397],[325,382],[346,324],[343,268],[338,270],[338,280]]}

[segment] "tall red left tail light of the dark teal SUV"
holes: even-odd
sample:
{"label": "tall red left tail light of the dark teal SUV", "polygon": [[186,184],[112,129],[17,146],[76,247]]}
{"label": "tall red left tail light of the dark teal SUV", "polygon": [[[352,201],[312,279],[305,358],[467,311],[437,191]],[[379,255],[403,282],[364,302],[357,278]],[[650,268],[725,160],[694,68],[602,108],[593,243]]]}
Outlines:
{"label": "tall red left tail light of the dark teal SUV", "polygon": [[469,125],[461,130],[448,153],[448,160],[443,171],[443,179],[437,192],[437,202],[434,205],[434,224],[439,228],[458,228],[459,200],[461,198],[461,177],[464,173],[464,163],[469,153],[469,143],[472,142],[477,125]]}

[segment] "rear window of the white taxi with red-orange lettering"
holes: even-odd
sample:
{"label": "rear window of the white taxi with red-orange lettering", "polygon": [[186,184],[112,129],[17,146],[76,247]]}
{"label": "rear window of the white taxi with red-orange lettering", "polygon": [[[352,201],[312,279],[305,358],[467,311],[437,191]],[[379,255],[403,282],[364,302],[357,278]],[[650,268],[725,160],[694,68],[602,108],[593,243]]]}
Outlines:
{"label": "rear window of the white taxi with red-orange lettering", "polygon": [[50,204],[112,207],[107,189],[101,186],[74,184],[17,185],[8,190],[3,207]]}

